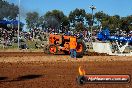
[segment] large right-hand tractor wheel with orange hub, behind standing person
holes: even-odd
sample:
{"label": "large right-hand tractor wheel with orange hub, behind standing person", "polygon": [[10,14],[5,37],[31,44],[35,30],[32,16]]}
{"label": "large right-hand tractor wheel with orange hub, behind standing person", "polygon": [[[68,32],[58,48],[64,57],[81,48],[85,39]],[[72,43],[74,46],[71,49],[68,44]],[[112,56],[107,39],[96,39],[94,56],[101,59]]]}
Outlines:
{"label": "large right-hand tractor wheel with orange hub, behind standing person", "polygon": [[82,58],[84,55],[84,52],[86,50],[86,45],[82,40],[77,40],[77,48],[76,48],[76,52],[77,52],[77,57],[78,58]]}

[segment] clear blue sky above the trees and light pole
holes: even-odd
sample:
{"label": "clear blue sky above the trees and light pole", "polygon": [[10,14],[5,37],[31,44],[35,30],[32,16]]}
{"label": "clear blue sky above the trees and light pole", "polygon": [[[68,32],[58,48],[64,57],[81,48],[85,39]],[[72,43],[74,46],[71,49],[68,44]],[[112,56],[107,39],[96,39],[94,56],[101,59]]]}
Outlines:
{"label": "clear blue sky above the trees and light pole", "polygon": [[[7,0],[18,5],[19,0]],[[36,11],[43,15],[47,11],[58,9],[68,15],[75,8],[85,9],[91,13],[89,6],[96,6],[94,12],[103,11],[109,15],[128,16],[132,15],[132,0],[21,0],[22,21],[25,13]]]}

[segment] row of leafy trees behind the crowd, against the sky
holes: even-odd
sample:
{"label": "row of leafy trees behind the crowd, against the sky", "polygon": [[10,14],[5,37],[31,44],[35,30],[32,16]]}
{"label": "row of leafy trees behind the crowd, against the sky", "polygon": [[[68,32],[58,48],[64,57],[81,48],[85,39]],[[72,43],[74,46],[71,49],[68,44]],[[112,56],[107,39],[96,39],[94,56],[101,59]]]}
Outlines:
{"label": "row of leafy trees behind the crowd, against the sky", "polygon": [[[5,0],[0,0],[0,20],[14,20],[17,18],[19,8]],[[66,16],[63,11],[52,10],[42,16],[38,12],[28,12],[26,14],[26,25],[28,29],[54,29],[56,32],[68,30],[83,31],[100,27],[108,27],[111,30],[122,29],[129,32],[132,30],[132,15],[121,17],[119,15],[110,16],[103,11],[96,12],[92,19],[92,14],[84,9],[76,8]]]}

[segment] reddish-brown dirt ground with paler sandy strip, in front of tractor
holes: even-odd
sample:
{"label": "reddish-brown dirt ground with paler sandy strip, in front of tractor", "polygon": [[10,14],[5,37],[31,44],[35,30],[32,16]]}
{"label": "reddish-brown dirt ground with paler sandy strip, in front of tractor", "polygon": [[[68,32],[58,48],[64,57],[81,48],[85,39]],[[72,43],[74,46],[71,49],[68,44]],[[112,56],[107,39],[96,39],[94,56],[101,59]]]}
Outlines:
{"label": "reddish-brown dirt ground with paler sandy strip, in front of tractor", "polygon": [[[50,60],[49,60],[50,59]],[[77,85],[78,67],[87,74],[130,74],[132,57],[0,54],[0,88],[132,88],[128,84]]]}

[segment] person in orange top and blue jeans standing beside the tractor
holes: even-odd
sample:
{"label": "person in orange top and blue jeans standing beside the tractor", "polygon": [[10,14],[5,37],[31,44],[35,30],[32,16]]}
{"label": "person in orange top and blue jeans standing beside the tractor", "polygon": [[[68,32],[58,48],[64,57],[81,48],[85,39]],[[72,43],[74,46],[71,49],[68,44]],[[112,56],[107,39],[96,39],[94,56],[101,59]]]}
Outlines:
{"label": "person in orange top and blue jeans standing beside the tractor", "polygon": [[77,47],[77,41],[75,36],[70,37],[70,56],[71,58],[76,59],[76,47]]}

